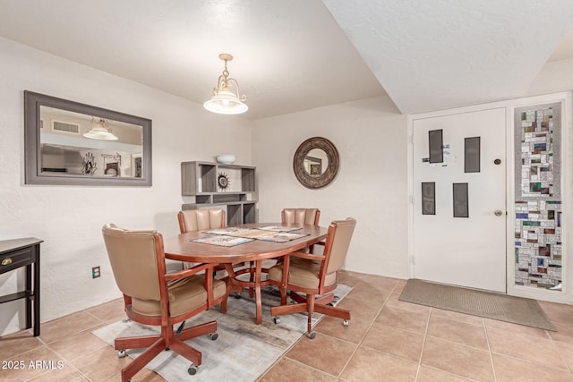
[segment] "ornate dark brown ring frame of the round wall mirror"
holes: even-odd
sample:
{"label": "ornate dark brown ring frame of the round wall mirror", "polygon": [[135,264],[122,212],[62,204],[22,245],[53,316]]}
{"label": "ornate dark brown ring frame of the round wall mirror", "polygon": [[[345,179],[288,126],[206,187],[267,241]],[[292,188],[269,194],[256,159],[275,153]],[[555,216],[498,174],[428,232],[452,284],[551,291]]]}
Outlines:
{"label": "ornate dark brown ring frame of the round wall mirror", "polygon": [[[329,166],[327,166],[324,173],[319,176],[311,175],[304,169],[304,158],[312,149],[322,149],[329,158]],[[338,174],[339,157],[337,148],[331,141],[322,137],[312,137],[304,140],[303,143],[296,149],[295,159],[293,160],[293,169],[295,170],[296,179],[298,182],[309,189],[320,189],[332,183]]]}

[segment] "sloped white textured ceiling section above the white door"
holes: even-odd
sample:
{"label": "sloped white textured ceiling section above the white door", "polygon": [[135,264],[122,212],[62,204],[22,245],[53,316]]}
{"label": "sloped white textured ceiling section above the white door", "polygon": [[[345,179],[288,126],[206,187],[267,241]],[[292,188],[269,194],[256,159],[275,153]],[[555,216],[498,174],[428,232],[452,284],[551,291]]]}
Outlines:
{"label": "sloped white textured ceiling section above the white door", "polygon": [[324,4],[404,114],[523,96],[573,25],[571,0]]}

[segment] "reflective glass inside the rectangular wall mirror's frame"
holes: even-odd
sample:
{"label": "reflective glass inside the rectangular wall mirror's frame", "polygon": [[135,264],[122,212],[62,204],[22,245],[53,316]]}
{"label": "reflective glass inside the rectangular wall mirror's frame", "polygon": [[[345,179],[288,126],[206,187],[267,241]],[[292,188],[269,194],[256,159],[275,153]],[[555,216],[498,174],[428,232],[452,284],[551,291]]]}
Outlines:
{"label": "reflective glass inside the rectangular wall mirror's frame", "polygon": [[[41,174],[141,178],[142,126],[48,106],[39,115]],[[115,140],[88,138],[106,133]]]}

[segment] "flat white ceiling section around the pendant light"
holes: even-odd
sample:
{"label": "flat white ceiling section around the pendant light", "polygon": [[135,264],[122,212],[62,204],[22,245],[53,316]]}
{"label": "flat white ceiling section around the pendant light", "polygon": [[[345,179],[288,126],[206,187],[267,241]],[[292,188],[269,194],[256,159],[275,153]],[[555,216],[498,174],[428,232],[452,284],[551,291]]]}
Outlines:
{"label": "flat white ceiling section around the pendant light", "polygon": [[201,104],[229,53],[252,119],[384,94],[318,0],[0,0],[0,36]]}

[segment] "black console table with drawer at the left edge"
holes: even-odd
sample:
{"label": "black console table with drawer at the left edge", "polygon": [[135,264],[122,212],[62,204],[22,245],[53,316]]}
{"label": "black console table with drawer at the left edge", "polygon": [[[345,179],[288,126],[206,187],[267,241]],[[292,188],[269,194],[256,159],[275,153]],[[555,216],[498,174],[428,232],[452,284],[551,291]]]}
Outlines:
{"label": "black console table with drawer at the left edge", "polygon": [[[26,290],[0,296],[0,304],[26,299],[26,328],[32,327],[32,301],[34,336],[39,335],[39,243],[35,237],[0,241],[0,274],[26,267]],[[33,268],[33,279],[32,279]]]}

